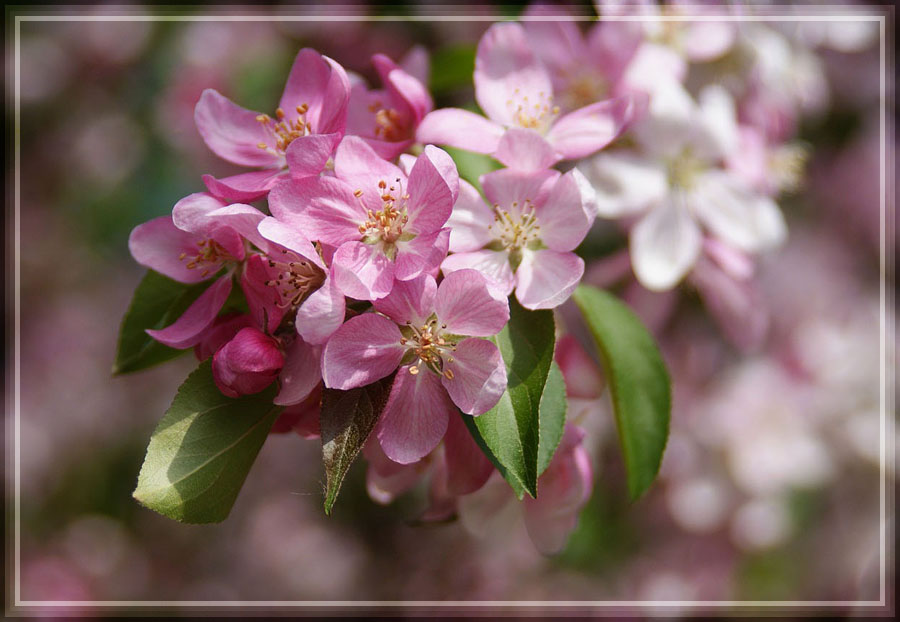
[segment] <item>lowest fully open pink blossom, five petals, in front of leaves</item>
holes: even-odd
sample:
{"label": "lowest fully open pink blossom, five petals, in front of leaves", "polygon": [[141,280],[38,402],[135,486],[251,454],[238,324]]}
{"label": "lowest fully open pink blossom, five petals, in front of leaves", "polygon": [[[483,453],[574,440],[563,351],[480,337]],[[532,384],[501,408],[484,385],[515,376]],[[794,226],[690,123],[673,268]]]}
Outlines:
{"label": "lowest fully open pink blossom, five petals, in front of leaves", "polygon": [[399,367],[377,436],[391,460],[408,464],[437,446],[457,408],[480,415],[506,390],[500,351],[479,337],[503,328],[509,306],[479,272],[460,270],[440,286],[428,275],[398,281],[375,310],[332,335],[322,376],[325,386],[348,390]]}

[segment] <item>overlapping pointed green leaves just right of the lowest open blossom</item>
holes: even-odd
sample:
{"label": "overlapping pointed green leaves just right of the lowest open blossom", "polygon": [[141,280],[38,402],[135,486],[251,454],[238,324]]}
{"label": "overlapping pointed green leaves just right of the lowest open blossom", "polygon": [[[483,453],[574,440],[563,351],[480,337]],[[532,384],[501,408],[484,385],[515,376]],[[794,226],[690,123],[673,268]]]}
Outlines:
{"label": "overlapping pointed green leaves just right of the lowest open blossom", "polygon": [[[555,331],[552,311],[528,311],[510,298],[509,323],[496,337],[506,363],[507,389],[494,408],[466,421],[519,498],[522,491],[537,496],[541,466],[549,463],[547,455],[552,455],[561,434],[557,428],[565,420],[558,394],[548,396],[546,402],[542,399],[553,362]],[[558,391],[557,379],[551,388],[553,393]],[[562,402],[564,395],[563,389]]]}

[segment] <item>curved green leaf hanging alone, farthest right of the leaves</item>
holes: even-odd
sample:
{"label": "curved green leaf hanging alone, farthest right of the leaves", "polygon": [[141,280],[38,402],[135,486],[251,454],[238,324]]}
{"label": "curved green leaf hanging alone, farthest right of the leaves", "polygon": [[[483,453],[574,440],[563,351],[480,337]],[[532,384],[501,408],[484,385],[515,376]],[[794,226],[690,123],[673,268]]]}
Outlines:
{"label": "curved green leaf hanging alone, farthest right of the leaves", "polygon": [[632,500],[653,483],[669,436],[669,374],[653,337],[625,303],[587,285],[574,299],[603,357]]}

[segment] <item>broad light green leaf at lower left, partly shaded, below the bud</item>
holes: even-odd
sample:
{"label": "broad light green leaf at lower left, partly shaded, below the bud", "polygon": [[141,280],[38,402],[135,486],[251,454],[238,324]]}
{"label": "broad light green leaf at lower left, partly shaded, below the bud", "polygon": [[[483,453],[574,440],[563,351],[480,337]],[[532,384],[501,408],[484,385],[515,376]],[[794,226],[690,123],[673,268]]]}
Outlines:
{"label": "broad light green leaf at lower left, partly shaded, below the bud", "polygon": [[179,387],[159,422],[134,498],[186,523],[216,523],[231,511],[280,406],[276,386],[239,399],[222,395],[210,361]]}

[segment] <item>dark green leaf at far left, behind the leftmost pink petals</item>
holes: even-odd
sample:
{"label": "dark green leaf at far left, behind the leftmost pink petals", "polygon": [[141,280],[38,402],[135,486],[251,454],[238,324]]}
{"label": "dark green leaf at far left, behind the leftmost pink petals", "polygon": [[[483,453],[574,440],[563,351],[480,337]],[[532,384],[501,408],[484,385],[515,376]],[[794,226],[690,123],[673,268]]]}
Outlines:
{"label": "dark green leaf at far left, behind the leftmost pink petals", "polygon": [[187,285],[148,270],[119,328],[113,375],[147,369],[183,354],[185,350],[164,346],[145,330],[165,328],[177,320],[211,284],[212,280]]}

